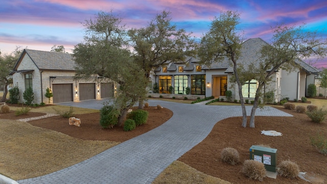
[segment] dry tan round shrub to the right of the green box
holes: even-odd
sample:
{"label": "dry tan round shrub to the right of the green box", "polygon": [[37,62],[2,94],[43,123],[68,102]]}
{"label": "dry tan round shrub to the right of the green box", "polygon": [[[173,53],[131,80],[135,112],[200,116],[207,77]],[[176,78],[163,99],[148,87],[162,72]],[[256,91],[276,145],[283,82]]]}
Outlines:
{"label": "dry tan round shrub to the right of the green box", "polygon": [[294,179],[300,172],[298,165],[290,160],[283,160],[277,167],[278,175],[286,178]]}

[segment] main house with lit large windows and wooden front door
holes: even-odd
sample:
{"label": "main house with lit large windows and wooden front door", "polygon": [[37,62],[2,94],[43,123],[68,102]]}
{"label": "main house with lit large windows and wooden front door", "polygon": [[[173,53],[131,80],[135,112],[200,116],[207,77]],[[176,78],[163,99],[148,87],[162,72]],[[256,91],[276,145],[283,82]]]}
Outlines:
{"label": "main house with lit large windows and wooden front door", "polygon": [[[260,59],[260,50],[268,44],[261,38],[252,38],[242,43],[241,56],[238,63],[246,65]],[[319,71],[313,66],[297,60],[298,68],[294,72],[287,73],[283,70],[275,71],[273,80],[265,86],[265,91],[274,91],[275,101],[282,98],[300,100],[306,96],[309,84],[315,83],[315,76]],[[238,87],[229,82],[233,75],[232,62],[225,58],[220,62],[213,62],[204,66],[199,64],[196,58],[188,59],[187,62],[167,63],[154,70],[152,83],[157,83],[159,93],[170,93],[170,86],[174,87],[173,94],[186,94],[186,88],[191,89],[192,95],[205,95],[224,98],[225,91],[231,90],[233,99],[239,100]],[[258,86],[256,80],[247,81],[242,86],[244,99],[253,99]]]}

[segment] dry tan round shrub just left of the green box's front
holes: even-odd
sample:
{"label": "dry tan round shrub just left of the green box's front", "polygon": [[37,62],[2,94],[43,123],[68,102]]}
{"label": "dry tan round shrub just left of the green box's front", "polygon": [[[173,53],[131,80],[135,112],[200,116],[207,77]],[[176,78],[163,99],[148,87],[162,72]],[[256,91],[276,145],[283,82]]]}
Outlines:
{"label": "dry tan round shrub just left of the green box's front", "polygon": [[241,172],[254,180],[263,181],[266,177],[265,165],[256,160],[245,160]]}

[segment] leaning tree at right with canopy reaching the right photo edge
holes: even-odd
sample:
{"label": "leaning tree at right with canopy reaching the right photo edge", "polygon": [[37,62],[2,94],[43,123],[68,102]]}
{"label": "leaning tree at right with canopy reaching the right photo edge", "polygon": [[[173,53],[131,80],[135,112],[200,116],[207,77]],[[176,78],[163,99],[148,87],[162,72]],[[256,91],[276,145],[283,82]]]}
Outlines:
{"label": "leaning tree at right with canopy reaching the right photo edge", "polygon": [[319,59],[327,54],[327,40],[320,38],[316,31],[308,31],[304,25],[277,26],[272,31],[272,42],[263,46],[261,60],[251,63],[249,70],[242,72],[242,75],[251,75],[259,83],[251,110],[250,127],[254,127],[255,110],[258,108],[262,89],[271,81],[271,75],[275,71],[292,72],[298,68],[298,60],[313,57]]}

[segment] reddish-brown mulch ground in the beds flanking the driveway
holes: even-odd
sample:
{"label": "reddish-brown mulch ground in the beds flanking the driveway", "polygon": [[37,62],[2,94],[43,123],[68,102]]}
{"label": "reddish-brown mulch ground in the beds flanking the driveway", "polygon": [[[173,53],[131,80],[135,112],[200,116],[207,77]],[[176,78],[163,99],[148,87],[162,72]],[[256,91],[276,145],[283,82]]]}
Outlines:
{"label": "reddish-brown mulch ground in the beds flanking the driveway", "polygon": [[[319,153],[310,144],[310,137],[314,136],[317,131],[327,135],[326,120],[323,123],[316,124],[305,113],[287,110],[282,106],[278,107],[278,109],[292,114],[293,117],[256,117],[255,128],[243,128],[240,117],[222,120],[214,126],[205,140],[182,155],[178,160],[205,174],[232,183],[309,183],[299,177],[295,179],[280,176],[277,176],[276,179],[266,177],[264,182],[260,182],[243,176],[240,170],[242,162],[249,159],[249,148],[252,145],[264,144],[278,150],[277,164],[282,160],[291,160],[298,164],[301,172],[307,172],[306,177],[312,183],[327,183],[327,157]],[[59,116],[34,120],[29,123],[83,140],[124,142],[161,125],[173,115],[173,112],[166,108],[158,110],[155,107],[148,107],[145,110],[149,111],[148,122],[129,132],[125,132],[122,127],[102,129],[99,125],[99,112],[76,114],[75,117],[80,118],[82,121],[81,127],[69,126],[68,119]],[[13,114],[0,114],[0,119],[17,119]],[[29,116],[33,117],[34,115],[39,116],[40,114],[29,112]],[[282,132],[283,136],[266,136],[261,134],[261,130],[275,130]],[[232,147],[239,151],[240,164],[230,166],[221,162],[220,152],[226,147]]]}

